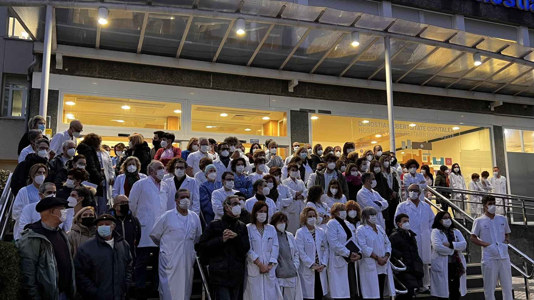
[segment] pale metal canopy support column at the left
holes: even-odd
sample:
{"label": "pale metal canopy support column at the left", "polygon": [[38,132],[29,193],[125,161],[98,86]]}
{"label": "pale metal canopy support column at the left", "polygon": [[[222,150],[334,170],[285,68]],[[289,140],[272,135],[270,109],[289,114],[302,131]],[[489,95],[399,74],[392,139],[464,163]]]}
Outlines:
{"label": "pale metal canopy support column at the left", "polygon": [[46,20],[44,26],[43,72],[41,74],[41,100],[39,101],[39,115],[46,118],[48,106],[48,84],[50,79],[50,54],[52,52],[53,7],[46,6]]}

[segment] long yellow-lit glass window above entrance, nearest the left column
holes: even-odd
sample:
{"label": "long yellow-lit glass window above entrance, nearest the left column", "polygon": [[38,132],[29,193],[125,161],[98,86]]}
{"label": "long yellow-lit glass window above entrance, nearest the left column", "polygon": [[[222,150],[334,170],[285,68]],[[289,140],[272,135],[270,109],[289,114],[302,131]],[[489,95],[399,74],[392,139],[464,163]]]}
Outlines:
{"label": "long yellow-lit glass window above entrance, nearest the left column", "polygon": [[152,100],[66,94],[62,122],[79,119],[84,125],[182,129],[182,104]]}

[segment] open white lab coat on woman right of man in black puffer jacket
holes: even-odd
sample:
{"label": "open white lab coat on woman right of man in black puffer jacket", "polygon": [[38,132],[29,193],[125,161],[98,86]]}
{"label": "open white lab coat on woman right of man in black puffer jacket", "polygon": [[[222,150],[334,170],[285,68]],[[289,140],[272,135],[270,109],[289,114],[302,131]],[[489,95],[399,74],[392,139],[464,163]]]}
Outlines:
{"label": "open white lab coat on woman right of man in black puffer jacket", "polygon": [[[278,265],[278,236],[270,224],[264,225],[263,236],[256,224],[247,224],[250,250],[247,253],[247,275],[243,300],[282,300],[282,293],[276,278]],[[260,259],[264,265],[273,263],[271,271],[261,274],[254,261]]]}

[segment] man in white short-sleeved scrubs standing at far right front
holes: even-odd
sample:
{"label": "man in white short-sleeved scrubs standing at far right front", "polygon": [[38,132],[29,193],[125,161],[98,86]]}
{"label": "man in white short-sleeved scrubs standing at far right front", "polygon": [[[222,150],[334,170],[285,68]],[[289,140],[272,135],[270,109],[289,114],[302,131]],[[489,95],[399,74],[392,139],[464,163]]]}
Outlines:
{"label": "man in white short-sleeved scrubs standing at far right front", "polygon": [[471,242],[482,247],[482,277],[484,279],[484,297],[495,300],[497,279],[502,288],[502,299],[512,300],[512,267],[508,255],[510,244],[510,226],[505,216],[496,214],[496,199],[493,196],[482,197],[484,214],[475,219]]}

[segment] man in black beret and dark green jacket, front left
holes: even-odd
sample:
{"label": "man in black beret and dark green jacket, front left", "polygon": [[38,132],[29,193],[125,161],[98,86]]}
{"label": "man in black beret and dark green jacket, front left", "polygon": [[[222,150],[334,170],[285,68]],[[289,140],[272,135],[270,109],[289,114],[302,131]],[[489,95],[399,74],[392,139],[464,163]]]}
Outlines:
{"label": "man in black beret and dark green jacket, front left", "polygon": [[[70,244],[59,224],[68,201],[48,197],[35,210],[41,220],[29,224],[18,240],[23,299],[74,299],[76,283]],[[44,249],[44,250],[43,250]]]}

